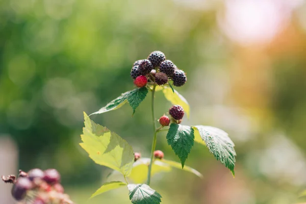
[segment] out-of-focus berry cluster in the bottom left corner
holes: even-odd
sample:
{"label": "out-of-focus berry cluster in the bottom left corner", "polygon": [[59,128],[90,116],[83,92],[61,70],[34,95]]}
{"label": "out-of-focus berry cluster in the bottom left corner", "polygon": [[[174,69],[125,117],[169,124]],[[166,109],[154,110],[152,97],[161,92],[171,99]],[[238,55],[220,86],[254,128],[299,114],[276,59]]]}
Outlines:
{"label": "out-of-focus berry cluster in the bottom left corner", "polygon": [[[61,175],[56,169],[32,169],[28,173],[2,176],[5,183],[14,184],[12,196],[20,204],[73,204],[60,184]],[[30,202],[29,202],[30,201]]]}

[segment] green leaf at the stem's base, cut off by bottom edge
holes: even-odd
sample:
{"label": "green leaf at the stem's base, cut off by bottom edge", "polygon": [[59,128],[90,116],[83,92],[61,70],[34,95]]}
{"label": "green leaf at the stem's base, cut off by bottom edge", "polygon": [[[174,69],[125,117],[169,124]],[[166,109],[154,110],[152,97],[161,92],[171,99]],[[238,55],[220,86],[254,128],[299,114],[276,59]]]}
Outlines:
{"label": "green leaf at the stem's base, cut off by bottom edge", "polygon": [[146,184],[127,185],[133,204],[159,204],[162,196]]}

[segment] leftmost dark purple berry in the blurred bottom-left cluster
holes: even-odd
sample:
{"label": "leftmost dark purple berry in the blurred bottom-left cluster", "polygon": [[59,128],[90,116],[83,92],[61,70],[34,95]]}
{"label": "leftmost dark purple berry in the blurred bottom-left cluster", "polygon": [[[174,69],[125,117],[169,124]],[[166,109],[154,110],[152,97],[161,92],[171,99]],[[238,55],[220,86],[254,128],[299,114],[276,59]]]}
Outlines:
{"label": "leftmost dark purple berry in the blurred bottom-left cluster", "polygon": [[33,184],[27,177],[19,177],[12,188],[12,196],[20,201],[27,195],[27,191],[32,188]]}

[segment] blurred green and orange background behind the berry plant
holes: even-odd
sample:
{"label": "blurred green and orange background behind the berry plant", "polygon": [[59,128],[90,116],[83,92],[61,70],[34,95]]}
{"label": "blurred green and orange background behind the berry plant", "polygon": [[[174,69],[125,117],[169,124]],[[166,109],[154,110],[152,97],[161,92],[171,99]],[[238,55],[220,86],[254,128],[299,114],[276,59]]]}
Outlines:
{"label": "blurred green and orange background behind the berry plant", "polygon": [[[302,202],[303,0],[0,0],[0,166],[14,171],[0,175],[57,168],[76,203],[129,203],[126,189],[88,200],[110,170],[78,145],[83,111],[133,89],[132,64],[154,50],[187,72],[187,84],[177,88],[191,106],[183,123],[225,130],[238,155],[233,179],[195,144],[186,165],[205,179],[180,170],[156,175],[151,187],[163,203]],[[159,117],[171,105],[161,93],[156,98]],[[147,97],[134,117],[126,105],[92,119],[148,157],[149,103]],[[179,161],[165,134],[157,148]]]}

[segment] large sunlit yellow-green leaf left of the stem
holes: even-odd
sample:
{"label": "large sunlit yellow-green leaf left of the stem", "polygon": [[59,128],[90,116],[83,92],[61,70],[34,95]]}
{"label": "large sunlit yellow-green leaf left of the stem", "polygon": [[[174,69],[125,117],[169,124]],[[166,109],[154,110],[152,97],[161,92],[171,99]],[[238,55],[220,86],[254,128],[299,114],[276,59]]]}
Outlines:
{"label": "large sunlit yellow-green leaf left of the stem", "polygon": [[134,163],[134,151],[124,139],[106,127],[96,124],[84,113],[85,127],[80,143],[89,157],[97,164],[130,175]]}

